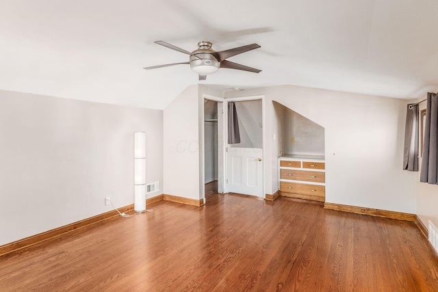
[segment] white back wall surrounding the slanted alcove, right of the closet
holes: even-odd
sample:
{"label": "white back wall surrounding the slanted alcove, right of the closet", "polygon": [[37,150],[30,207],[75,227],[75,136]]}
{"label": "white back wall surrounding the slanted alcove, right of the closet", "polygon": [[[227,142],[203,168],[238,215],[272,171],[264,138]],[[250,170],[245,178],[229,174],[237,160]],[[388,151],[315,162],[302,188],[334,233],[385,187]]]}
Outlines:
{"label": "white back wall surrounding the slanted alcove, right of the closet", "polygon": [[[278,189],[280,148],[272,101],[325,129],[326,202],[415,213],[415,174],[402,170],[407,101],[348,92],[281,85],[226,97],[265,95],[266,192]],[[274,137],[275,136],[275,137]]]}

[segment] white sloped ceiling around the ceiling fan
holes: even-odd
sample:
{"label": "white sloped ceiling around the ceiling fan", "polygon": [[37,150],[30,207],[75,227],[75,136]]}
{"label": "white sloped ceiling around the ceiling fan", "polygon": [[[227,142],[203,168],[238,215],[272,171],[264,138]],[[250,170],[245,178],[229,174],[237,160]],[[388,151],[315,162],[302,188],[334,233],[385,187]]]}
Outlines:
{"label": "white sloped ceiling around the ceiling fan", "polygon": [[[189,85],[292,84],[396,98],[438,87],[436,0],[0,0],[0,89],[164,109]],[[198,81],[187,51],[256,42]]]}

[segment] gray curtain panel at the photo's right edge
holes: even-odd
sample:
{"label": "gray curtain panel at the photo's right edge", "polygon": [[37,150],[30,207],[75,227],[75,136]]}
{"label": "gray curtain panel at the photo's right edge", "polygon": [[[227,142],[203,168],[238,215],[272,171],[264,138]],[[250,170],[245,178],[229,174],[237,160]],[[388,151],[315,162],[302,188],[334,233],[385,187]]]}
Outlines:
{"label": "gray curtain panel at the photo's right edge", "polygon": [[424,124],[424,142],[420,181],[438,185],[438,94],[427,94],[426,123]]}

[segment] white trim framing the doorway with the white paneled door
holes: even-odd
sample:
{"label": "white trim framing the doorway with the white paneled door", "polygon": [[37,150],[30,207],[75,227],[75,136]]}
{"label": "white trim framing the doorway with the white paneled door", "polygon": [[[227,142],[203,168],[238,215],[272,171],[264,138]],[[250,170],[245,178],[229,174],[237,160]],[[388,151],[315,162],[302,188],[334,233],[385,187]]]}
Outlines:
{"label": "white trim framing the doorway with the white paneled door", "polygon": [[[261,138],[262,138],[262,155],[261,155],[261,159],[263,161],[263,178],[262,178],[262,184],[263,184],[263,199],[266,199],[266,114],[265,114],[265,96],[264,95],[254,95],[254,96],[242,96],[242,97],[232,97],[232,98],[224,98],[224,123],[225,123],[225,127],[224,127],[224,181],[227,181],[228,177],[228,165],[227,165],[227,148],[229,147],[228,144],[228,103],[230,101],[257,101],[257,100],[261,100]],[[224,192],[228,193],[228,184],[224,183]]]}

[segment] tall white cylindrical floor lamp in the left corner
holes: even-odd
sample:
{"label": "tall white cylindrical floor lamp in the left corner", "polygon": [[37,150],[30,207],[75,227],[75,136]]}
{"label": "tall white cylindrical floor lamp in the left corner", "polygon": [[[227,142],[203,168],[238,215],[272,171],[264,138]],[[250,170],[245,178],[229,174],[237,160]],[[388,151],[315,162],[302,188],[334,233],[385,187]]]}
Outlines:
{"label": "tall white cylindrical floor lamp in the left corner", "polygon": [[146,133],[134,133],[134,211],[146,209]]}

